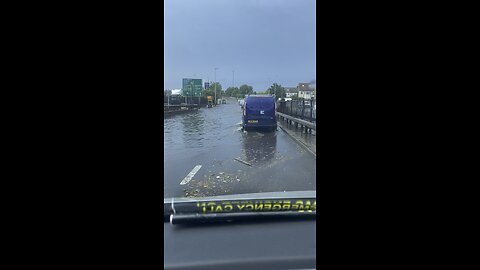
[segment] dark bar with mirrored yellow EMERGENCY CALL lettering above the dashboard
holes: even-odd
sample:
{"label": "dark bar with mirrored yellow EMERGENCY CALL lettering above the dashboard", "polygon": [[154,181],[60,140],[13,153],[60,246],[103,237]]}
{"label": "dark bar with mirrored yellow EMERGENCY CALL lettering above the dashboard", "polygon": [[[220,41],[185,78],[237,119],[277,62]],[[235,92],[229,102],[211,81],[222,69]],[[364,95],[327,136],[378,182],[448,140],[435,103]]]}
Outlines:
{"label": "dark bar with mirrored yellow EMERGENCY CALL lettering above the dashboard", "polygon": [[164,221],[171,224],[314,219],[315,191],[290,191],[164,200]]}

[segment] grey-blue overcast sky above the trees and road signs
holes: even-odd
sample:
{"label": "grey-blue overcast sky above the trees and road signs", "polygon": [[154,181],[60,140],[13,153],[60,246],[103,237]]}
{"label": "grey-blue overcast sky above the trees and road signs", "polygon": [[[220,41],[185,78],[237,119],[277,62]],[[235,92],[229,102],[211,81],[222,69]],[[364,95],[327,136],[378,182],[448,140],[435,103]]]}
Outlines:
{"label": "grey-blue overcast sky above the trees and road signs", "polygon": [[182,78],[214,80],[225,90],[316,79],[315,0],[164,0],[165,89]]}

